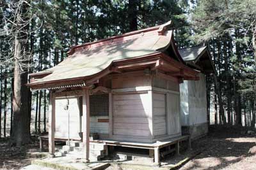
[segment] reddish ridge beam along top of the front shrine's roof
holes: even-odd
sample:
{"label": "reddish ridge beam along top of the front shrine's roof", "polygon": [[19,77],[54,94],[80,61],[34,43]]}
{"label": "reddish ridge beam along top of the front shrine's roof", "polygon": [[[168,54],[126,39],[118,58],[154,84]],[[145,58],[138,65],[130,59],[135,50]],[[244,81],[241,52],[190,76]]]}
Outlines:
{"label": "reddish ridge beam along top of the front shrine's roof", "polygon": [[89,42],[89,43],[84,43],[84,44],[81,44],[81,45],[72,46],[71,49],[68,51],[68,55],[72,55],[73,53],[75,53],[76,48],[80,48],[80,47],[88,46],[88,45],[93,45],[93,44],[97,44],[97,43],[103,43],[103,42],[109,41],[111,39],[117,39],[117,38],[122,38],[122,37],[126,37],[126,36],[132,36],[134,34],[140,34],[142,32],[155,31],[155,30],[158,29],[158,31],[157,31],[158,34],[162,35],[166,31],[166,27],[170,24],[171,24],[171,20],[169,22],[166,22],[166,23],[162,24],[162,25],[157,25],[157,26],[154,26],[154,27],[148,27],[146,29],[131,31],[131,32],[127,32],[127,33],[124,33],[124,34],[121,34],[121,35],[112,36],[112,37],[109,37],[109,38],[99,39],[97,41],[92,41],[92,42]]}

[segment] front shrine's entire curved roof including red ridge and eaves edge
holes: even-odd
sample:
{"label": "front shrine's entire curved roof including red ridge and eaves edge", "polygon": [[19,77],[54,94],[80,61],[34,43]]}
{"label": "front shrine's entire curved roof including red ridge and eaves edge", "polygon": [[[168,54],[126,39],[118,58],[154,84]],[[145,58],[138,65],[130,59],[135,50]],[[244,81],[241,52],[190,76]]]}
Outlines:
{"label": "front shrine's entire curved roof including red ridge and eaves edge", "polygon": [[56,84],[58,84],[60,87],[61,82],[65,85],[72,85],[76,80],[79,81],[79,84],[83,84],[81,86],[84,86],[84,80],[98,74],[105,74],[105,72],[108,74],[113,62],[159,55],[159,53],[166,52],[169,46],[172,48],[172,57],[184,63],[175,46],[173,31],[166,29],[168,25],[170,22],[74,46],[68,52],[68,57],[57,66],[29,74],[31,81],[28,85],[31,89],[37,89],[36,85],[57,87]]}

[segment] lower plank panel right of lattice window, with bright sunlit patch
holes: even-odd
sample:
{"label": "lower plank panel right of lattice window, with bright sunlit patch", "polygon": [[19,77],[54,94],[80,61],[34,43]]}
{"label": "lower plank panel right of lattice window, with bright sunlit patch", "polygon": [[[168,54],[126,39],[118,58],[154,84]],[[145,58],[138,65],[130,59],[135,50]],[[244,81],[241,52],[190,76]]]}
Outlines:
{"label": "lower plank panel right of lattice window, with bright sunlit patch", "polygon": [[149,137],[150,102],[148,92],[113,94],[113,135]]}

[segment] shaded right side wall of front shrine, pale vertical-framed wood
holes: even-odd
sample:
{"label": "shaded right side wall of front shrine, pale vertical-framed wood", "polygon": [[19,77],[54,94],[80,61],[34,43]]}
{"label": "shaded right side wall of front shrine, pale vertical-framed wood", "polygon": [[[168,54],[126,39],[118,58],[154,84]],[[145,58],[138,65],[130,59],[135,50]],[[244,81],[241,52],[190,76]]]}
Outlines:
{"label": "shaded right side wall of front shrine, pale vertical-framed wood", "polygon": [[154,140],[180,136],[179,83],[154,77],[152,106]]}

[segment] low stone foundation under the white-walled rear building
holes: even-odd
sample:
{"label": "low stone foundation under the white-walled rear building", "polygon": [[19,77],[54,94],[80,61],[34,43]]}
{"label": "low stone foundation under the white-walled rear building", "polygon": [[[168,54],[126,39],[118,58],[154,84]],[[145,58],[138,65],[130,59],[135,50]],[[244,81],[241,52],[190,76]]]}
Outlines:
{"label": "low stone foundation under the white-walled rear building", "polygon": [[208,133],[208,124],[196,124],[190,126],[182,126],[182,135],[190,135],[192,140],[205,136]]}

